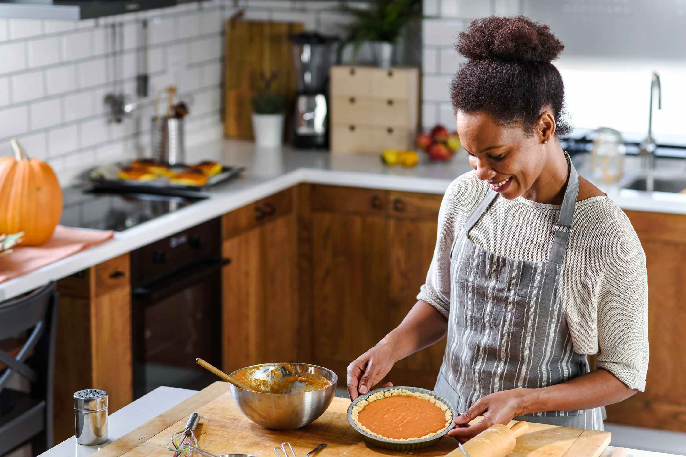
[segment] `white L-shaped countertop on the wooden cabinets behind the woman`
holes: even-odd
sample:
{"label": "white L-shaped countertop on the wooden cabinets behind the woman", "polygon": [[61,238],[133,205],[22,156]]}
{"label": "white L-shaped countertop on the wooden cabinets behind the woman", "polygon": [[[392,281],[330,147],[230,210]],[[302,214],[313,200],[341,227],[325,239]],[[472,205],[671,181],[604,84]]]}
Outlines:
{"label": "white L-shaped countertop on the wooden cabinets behind the woman", "polygon": [[[338,155],[323,151],[294,151],[291,148],[261,149],[241,140],[225,140],[193,148],[187,161],[217,160],[224,164],[246,166],[240,179],[214,187],[211,198],[115,234],[114,239],[71,257],[41,267],[34,272],[0,283],[0,301],[40,287],[49,280],[69,276],[125,252],[140,248],[228,211],[299,183],[319,183],[443,194],[448,185],[471,170],[464,152],[448,164],[434,164],[425,157],[415,168],[387,167],[377,155]],[[577,164],[578,159],[573,159]],[[584,158],[581,157],[583,161]],[[626,168],[636,167],[638,159],[628,157]],[[686,161],[657,161],[665,172],[686,176]],[[577,168],[584,177],[584,164]],[[601,186],[602,187],[602,186]],[[622,209],[686,214],[686,196],[602,187]]]}

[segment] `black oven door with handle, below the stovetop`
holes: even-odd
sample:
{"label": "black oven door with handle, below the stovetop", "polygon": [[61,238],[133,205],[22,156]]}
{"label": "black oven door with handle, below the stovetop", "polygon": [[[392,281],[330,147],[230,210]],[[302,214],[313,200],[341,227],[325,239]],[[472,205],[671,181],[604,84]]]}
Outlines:
{"label": "black oven door with handle, below the stovetop", "polygon": [[196,357],[221,366],[222,267],[206,259],[132,288],[134,397],[160,386],[203,389],[217,380]]}

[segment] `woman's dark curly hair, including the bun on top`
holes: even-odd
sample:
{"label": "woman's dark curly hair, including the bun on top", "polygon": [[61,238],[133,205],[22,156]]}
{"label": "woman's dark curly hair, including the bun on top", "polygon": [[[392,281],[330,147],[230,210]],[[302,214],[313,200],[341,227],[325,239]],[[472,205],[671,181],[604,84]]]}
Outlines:
{"label": "woman's dark curly hair, including the bun on top", "polygon": [[502,125],[533,132],[541,111],[552,107],[556,135],[571,126],[565,113],[565,85],[556,60],[565,46],[547,25],[525,16],[489,16],[460,33],[458,53],[469,59],[450,84],[453,110],[484,110]]}

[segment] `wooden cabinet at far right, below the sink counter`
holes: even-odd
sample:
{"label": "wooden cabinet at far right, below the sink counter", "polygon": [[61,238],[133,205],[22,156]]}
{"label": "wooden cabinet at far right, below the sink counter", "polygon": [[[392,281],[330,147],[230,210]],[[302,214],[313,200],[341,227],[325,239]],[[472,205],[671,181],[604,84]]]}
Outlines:
{"label": "wooden cabinet at far right, below the sink counter", "polygon": [[686,432],[686,216],[626,214],[646,252],[650,362],[646,391],[606,406],[607,420]]}

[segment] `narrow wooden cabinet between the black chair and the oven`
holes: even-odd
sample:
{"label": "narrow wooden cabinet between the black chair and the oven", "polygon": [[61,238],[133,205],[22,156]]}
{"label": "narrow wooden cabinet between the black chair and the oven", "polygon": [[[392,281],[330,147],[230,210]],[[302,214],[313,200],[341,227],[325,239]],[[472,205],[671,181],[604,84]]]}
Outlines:
{"label": "narrow wooden cabinet between the black chair and the oven", "polygon": [[129,254],[58,281],[55,443],[74,434],[73,393],[103,389],[110,414],[133,401]]}

